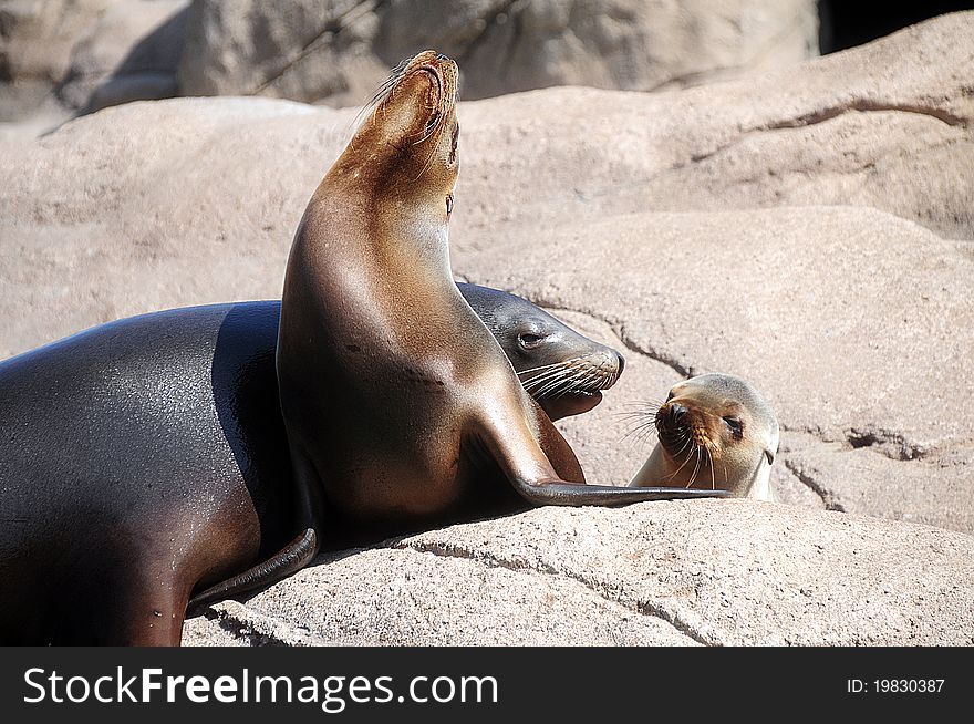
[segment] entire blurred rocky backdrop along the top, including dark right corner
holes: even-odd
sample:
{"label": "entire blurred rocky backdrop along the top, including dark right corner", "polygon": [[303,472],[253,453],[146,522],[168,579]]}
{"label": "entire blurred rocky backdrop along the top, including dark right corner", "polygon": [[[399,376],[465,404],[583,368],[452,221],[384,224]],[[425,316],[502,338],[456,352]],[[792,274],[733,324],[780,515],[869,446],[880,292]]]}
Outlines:
{"label": "entire blurred rocky backdrop along the top, including dark right corner", "polygon": [[661,91],[799,63],[967,2],[0,0],[0,137],[135,100],[364,103],[434,46],[465,100],[552,85]]}

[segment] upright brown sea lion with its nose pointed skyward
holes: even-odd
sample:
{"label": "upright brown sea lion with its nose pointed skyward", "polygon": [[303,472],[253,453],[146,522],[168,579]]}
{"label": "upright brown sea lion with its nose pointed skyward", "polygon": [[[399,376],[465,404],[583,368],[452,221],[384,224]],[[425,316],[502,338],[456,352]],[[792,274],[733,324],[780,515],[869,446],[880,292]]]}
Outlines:
{"label": "upright brown sea lion with its nose pointed skyward", "polygon": [[305,534],[323,510],[392,535],[532,505],[722,495],[584,485],[457,292],[456,82],[434,51],[396,69],[291,246],[277,366]]}

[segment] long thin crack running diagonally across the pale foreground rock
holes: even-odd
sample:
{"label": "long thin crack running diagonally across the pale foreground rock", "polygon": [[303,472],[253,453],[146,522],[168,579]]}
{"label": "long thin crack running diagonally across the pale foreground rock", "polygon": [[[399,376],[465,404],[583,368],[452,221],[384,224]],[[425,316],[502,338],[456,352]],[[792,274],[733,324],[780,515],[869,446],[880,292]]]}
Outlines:
{"label": "long thin crack running diagonally across the pale foreground rock", "polygon": [[683,635],[692,639],[700,644],[706,647],[721,645],[719,641],[702,633],[701,631],[697,631],[688,622],[684,621],[675,611],[666,610],[662,606],[653,603],[651,601],[640,602],[636,606],[626,606],[624,602],[610,597],[604,590],[604,586],[601,586],[598,581],[587,579],[571,571],[553,568],[552,566],[549,566],[541,561],[537,561],[536,565],[530,565],[527,561],[519,562],[515,560],[499,558],[493,554],[473,551],[460,548],[458,546],[436,542],[401,541],[398,544],[394,544],[392,546],[392,549],[413,550],[415,552],[428,554],[431,556],[438,556],[441,558],[459,558],[463,560],[469,560],[480,563],[481,566],[487,566],[489,568],[502,568],[505,570],[510,570],[515,572],[535,572],[545,576],[555,576],[558,578],[572,580],[577,583],[580,583],[586,590],[591,591],[602,600],[608,601],[613,606],[618,606],[626,611],[633,611],[641,616],[651,616],[653,618],[665,621],[674,629],[680,631]]}

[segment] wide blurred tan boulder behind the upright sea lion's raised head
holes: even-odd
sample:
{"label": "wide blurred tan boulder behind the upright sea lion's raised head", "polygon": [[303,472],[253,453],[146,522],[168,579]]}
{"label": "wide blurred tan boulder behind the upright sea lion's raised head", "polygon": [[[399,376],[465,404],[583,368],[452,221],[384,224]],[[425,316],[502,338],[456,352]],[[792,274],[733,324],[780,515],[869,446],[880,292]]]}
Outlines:
{"label": "wide blurred tan boulder behind the upright sea lion's raised head", "polygon": [[591,85],[650,91],[818,54],[811,0],[195,0],[186,95],[364,103],[425,48],[460,62],[467,99]]}

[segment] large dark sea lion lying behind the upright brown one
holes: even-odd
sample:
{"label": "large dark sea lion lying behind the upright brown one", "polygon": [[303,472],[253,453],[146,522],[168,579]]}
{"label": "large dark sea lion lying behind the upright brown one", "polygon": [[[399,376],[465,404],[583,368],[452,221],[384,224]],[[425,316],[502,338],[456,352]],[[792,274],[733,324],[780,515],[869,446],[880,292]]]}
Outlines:
{"label": "large dark sea lion lying behind the upright brown one", "polygon": [[[519,297],[459,289],[519,371],[615,354]],[[174,309],[0,362],[0,642],[175,644],[191,592],[300,561],[274,558],[296,530],[279,318],[277,301]],[[569,382],[580,410],[611,380]]]}

